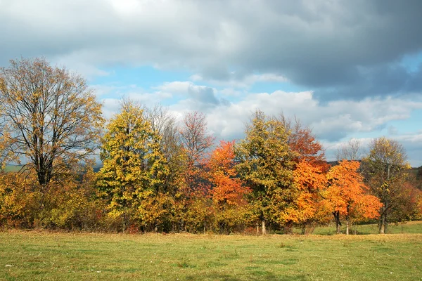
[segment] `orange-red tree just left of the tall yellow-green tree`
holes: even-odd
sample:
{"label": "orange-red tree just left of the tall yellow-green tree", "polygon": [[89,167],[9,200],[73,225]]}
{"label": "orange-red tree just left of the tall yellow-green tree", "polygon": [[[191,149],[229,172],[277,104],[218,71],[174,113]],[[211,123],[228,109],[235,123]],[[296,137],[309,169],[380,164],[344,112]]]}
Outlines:
{"label": "orange-red tree just left of the tall yellow-green tree", "polygon": [[245,224],[248,202],[245,195],[250,188],[238,178],[235,168],[234,141],[221,141],[207,162],[208,177],[212,184],[212,206],[220,231],[230,232]]}

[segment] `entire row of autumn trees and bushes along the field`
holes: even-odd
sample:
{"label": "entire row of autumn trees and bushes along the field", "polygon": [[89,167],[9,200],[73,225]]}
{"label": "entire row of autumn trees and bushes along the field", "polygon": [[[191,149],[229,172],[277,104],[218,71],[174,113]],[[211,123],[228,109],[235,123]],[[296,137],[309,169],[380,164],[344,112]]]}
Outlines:
{"label": "entire row of autumn trees and bushes along the field", "polygon": [[[111,119],[87,81],[44,58],[0,69],[0,224],[125,232],[302,233],[335,221],[422,215],[420,178],[397,141],[376,138],[326,162],[312,130],[257,110],[245,138],[215,142],[205,116],[182,122],[129,99]],[[102,162],[94,172],[95,155]],[[358,161],[359,160],[359,161]]]}

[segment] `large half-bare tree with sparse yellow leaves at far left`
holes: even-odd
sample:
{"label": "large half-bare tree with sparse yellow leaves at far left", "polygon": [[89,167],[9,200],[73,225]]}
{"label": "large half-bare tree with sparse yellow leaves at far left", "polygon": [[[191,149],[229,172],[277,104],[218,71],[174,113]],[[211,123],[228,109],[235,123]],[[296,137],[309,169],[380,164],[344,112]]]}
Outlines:
{"label": "large half-bare tree with sparse yellow leaves at far left", "polygon": [[0,68],[1,138],[29,160],[41,192],[97,148],[103,118],[85,79],[44,58]]}

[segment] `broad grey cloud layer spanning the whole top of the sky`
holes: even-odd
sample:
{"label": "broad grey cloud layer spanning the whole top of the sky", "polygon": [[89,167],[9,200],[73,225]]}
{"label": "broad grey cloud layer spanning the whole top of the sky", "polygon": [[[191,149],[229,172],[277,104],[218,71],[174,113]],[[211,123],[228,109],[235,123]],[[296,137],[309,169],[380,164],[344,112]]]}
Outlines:
{"label": "broad grey cloud layer spanning the whole top of the sky", "polygon": [[0,64],[182,67],[238,85],[287,79],[325,101],[418,93],[421,67],[402,62],[422,51],[420,11],[418,0],[4,0]]}

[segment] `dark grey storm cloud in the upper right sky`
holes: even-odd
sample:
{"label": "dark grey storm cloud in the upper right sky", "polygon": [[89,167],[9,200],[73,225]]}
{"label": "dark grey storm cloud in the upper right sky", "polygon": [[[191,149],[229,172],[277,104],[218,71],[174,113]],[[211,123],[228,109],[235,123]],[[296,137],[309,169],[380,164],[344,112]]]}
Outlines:
{"label": "dark grey storm cloud in the upper right sky", "polygon": [[248,29],[250,47],[238,53],[245,68],[279,72],[321,99],[421,91],[420,73],[400,61],[422,49],[422,1],[281,2],[272,21]]}

